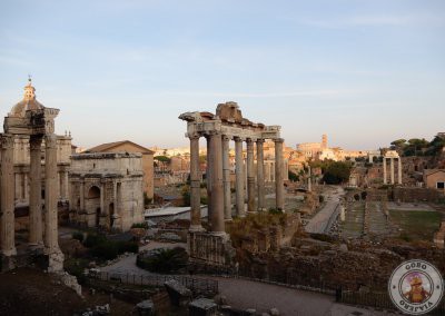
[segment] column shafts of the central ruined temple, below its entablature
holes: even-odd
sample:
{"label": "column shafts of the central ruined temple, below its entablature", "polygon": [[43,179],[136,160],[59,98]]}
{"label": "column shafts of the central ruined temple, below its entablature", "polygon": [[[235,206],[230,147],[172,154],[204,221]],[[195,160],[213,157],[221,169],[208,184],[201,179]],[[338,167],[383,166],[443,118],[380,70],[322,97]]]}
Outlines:
{"label": "column shafts of the central ruined temple, below its entablature", "polygon": [[[211,132],[205,136],[207,139],[207,196],[208,213],[211,231],[224,234],[225,220],[231,219],[230,198],[230,164],[229,142],[230,137]],[[247,145],[247,211],[265,210],[265,170],[264,170],[264,139],[256,141],[247,138],[234,137],[236,162],[236,215],[243,217],[245,210],[244,190],[244,157],[243,142]],[[284,209],[284,160],[283,139],[275,139],[275,179],[276,179],[276,208]],[[257,148],[257,182],[255,184],[254,142]],[[200,224],[200,169],[199,169],[199,136],[190,137],[190,230],[202,230]]]}

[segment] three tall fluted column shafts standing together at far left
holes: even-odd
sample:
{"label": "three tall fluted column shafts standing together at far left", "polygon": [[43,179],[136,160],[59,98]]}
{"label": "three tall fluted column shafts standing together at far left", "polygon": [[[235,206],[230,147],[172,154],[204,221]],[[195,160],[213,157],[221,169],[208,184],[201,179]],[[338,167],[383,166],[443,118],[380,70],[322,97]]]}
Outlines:
{"label": "three tall fluted column shafts standing together at far left", "polygon": [[[29,244],[41,246],[47,253],[58,250],[58,175],[57,138],[46,135],[44,162],[44,241],[41,205],[41,144],[43,136],[30,137],[30,192],[29,192]],[[13,135],[1,136],[1,213],[0,213],[0,253],[4,256],[17,254],[14,244],[14,175],[13,175]]]}

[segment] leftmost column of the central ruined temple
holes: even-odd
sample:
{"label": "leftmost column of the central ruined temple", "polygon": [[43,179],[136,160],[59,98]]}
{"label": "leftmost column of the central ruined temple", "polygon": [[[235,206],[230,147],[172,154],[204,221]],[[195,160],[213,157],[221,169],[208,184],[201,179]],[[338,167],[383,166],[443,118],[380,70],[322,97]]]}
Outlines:
{"label": "leftmost column of the central ruined temple", "polygon": [[199,136],[190,137],[190,231],[202,230],[199,170]]}

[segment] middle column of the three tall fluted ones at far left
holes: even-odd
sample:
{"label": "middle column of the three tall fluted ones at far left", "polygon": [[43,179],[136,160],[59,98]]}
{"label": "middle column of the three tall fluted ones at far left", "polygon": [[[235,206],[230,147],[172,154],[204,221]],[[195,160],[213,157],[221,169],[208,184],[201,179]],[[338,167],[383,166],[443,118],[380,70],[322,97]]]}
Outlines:
{"label": "middle column of the three tall fluted ones at far left", "polygon": [[31,136],[29,166],[29,244],[43,246],[41,206],[41,136]]}

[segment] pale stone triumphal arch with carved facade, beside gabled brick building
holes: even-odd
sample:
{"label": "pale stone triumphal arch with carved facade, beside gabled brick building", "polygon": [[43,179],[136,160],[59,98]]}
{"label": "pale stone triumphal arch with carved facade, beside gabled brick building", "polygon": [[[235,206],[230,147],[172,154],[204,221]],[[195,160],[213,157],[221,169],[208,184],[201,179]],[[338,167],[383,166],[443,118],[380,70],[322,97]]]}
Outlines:
{"label": "pale stone triumphal arch with carved facade, beside gabled brick building", "polygon": [[129,230],[144,221],[141,154],[71,156],[70,220],[87,227]]}

